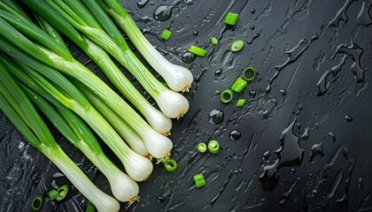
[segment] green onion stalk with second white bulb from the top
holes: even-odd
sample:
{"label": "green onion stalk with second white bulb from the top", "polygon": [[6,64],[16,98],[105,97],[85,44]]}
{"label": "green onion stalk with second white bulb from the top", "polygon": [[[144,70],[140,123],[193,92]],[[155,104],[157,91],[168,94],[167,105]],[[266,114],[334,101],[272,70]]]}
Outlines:
{"label": "green onion stalk with second white bulb from the top", "polygon": [[[63,27],[59,27],[55,21],[52,21],[56,15],[59,15],[58,17],[61,19],[65,19],[64,22],[71,24],[90,40],[105,49],[106,52],[111,54],[135,76],[167,117],[182,117],[189,110],[189,102],[183,95],[165,87],[139,61],[121,36],[119,29],[96,1],[82,1],[89,10],[78,0],[22,1],[32,10],[39,13],[40,16],[43,16],[44,19],[48,19],[50,25],[56,27],[66,36],[68,36],[68,33],[65,33],[66,30]],[[70,39],[74,41],[72,38]]]}

